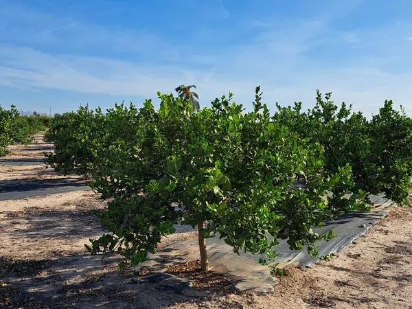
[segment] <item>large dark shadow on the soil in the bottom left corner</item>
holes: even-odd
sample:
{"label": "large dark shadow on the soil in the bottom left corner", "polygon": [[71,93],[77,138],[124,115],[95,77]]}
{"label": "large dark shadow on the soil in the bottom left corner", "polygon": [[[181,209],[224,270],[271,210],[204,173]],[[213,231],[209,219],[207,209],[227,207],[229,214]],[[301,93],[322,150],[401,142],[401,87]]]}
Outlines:
{"label": "large dark shadow on the soil in the bottom left corner", "polygon": [[[238,293],[219,286],[196,290],[165,276],[124,275],[117,271],[119,261],[113,255],[102,259],[88,254],[38,262],[1,259],[0,301],[12,308],[163,308]],[[34,264],[33,273],[14,271],[16,265],[30,268]]]}

